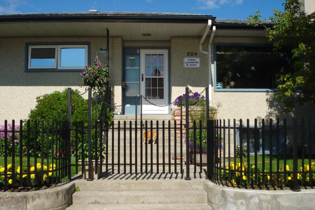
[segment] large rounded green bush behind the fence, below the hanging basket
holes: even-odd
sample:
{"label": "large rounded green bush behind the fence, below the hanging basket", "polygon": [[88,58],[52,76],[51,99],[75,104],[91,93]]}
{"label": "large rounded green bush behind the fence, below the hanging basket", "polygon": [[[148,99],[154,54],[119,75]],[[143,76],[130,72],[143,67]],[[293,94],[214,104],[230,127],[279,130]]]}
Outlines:
{"label": "large rounded green bush behind the fence, below the hanging basket", "polygon": [[[71,91],[71,122],[72,128],[75,128],[76,122],[78,123],[78,128],[81,127],[81,121],[84,123],[84,128],[88,127],[88,100],[84,99],[79,95],[78,90]],[[39,156],[41,153],[41,121],[44,121],[44,154],[46,155],[46,147],[47,147],[47,122],[49,120],[49,126],[52,126],[52,120],[54,121],[66,121],[67,120],[67,109],[68,109],[68,98],[67,98],[67,89],[64,91],[54,91],[51,94],[44,94],[42,96],[38,96],[36,98],[36,106],[35,109],[32,109],[29,114],[30,119],[30,128],[34,129],[34,121],[37,120],[37,154]],[[98,102],[98,115],[100,113],[102,102],[99,100]],[[107,108],[106,111],[106,120],[111,123],[112,122],[112,111],[110,108]],[[92,98],[92,128],[95,127],[95,99]],[[26,129],[26,123],[24,125],[24,129]],[[71,133],[71,148],[73,153],[75,153],[75,131]],[[31,139],[34,139],[34,134],[31,133]],[[26,138],[24,138],[26,139]],[[84,148],[87,149],[88,146],[88,132],[84,132]],[[52,137],[49,137],[49,141],[51,143]],[[34,148],[34,141],[31,141],[31,147]],[[97,142],[99,146],[99,142]],[[95,145],[95,129],[92,129],[92,145]],[[78,147],[81,148],[81,133],[78,132]],[[51,152],[51,145],[49,148],[49,152]],[[54,149],[54,148],[53,148]],[[58,149],[59,150],[59,149]],[[31,149],[31,156],[34,156],[33,150]],[[95,154],[95,147],[92,146],[92,154]],[[87,157],[87,151],[85,151],[84,156]],[[81,159],[81,152],[78,151],[78,158]]]}

